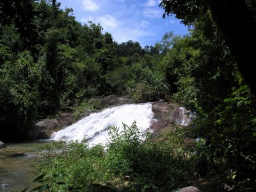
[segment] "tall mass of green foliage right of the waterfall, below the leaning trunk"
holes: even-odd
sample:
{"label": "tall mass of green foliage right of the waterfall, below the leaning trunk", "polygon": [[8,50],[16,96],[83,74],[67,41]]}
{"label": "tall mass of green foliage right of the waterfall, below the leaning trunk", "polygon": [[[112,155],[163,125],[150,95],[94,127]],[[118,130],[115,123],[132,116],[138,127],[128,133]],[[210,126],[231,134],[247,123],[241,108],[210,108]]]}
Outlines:
{"label": "tall mass of green foliage right of the waterfall, below the leaning trunk", "polygon": [[[160,64],[161,72],[166,74],[173,99],[199,112],[193,124],[196,136],[202,138],[197,146],[202,167],[198,172],[210,175],[230,190],[253,191],[255,97],[242,83],[236,62],[205,2],[161,1],[167,15],[175,14],[184,24],[193,24],[188,36],[173,39],[172,48]],[[253,3],[246,4],[255,15]]]}

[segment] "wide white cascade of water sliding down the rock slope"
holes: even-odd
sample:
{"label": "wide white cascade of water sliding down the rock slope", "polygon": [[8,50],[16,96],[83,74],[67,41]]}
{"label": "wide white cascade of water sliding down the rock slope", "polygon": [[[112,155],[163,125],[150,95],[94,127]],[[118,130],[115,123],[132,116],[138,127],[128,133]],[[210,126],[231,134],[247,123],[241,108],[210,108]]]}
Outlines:
{"label": "wide white cascade of water sliding down the rock slope", "polygon": [[152,104],[125,104],[92,113],[61,131],[54,132],[52,140],[83,140],[89,145],[104,145],[108,140],[108,127],[116,125],[122,129],[122,123],[132,125],[136,121],[140,131],[147,131],[152,124],[154,113]]}

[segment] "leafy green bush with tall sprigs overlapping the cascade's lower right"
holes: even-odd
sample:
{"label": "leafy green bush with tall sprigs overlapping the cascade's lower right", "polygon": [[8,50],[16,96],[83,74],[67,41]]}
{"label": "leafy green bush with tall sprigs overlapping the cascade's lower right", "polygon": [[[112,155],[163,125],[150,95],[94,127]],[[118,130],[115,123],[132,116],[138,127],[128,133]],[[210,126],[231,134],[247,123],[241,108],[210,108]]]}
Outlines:
{"label": "leafy green bush with tall sprigs overlapping the cascade's lower right", "polygon": [[194,177],[193,157],[181,147],[181,132],[171,130],[160,136],[163,140],[159,142],[150,137],[143,142],[145,135],[138,131],[136,124],[123,126],[121,132],[117,127],[110,127],[108,156],[112,161],[108,166],[121,178],[130,176],[126,188],[131,191],[168,191],[186,185],[186,180]]}

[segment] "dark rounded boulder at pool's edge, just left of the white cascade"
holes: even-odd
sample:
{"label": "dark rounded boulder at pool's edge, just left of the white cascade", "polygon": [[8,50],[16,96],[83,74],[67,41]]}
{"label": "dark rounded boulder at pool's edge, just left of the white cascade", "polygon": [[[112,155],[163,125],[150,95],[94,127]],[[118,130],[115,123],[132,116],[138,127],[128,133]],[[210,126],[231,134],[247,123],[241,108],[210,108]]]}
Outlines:
{"label": "dark rounded boulder at pool's edge, just left of the white cascade", "polygon": [[35,139],[49,139],[53,131],[58,129],[58,122],[55,119],[44,119],[36,122],[28,132],[28,138]]}

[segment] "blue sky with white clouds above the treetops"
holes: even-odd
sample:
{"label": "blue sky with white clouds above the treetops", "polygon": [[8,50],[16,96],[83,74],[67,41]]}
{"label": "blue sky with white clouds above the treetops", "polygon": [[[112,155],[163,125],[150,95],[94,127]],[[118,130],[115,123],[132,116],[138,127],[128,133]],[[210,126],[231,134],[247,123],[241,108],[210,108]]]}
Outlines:
{"label": "blue sky with white clouds above the treetops", "polygon": [[163,8],[159,0],[58,0],[61,8],[73,8],[78,22],[88,20],[100,23],[104,32],[109,32],[118,42],[132,40],[141,47],[159,42],[164,33],[185,35],[188,27],[175,17],[163,19]]}

